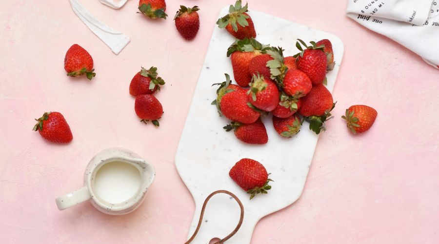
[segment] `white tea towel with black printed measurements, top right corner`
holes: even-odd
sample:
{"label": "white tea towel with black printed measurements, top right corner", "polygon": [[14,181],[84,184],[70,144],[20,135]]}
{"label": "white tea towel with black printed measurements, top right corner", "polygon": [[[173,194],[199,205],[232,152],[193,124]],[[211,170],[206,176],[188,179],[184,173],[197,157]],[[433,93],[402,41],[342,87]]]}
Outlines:
{"label": "white tea towel with black printed measurements, top right corner", "polygon": [[346,12],[439,69],[439,0],[348,0]]}

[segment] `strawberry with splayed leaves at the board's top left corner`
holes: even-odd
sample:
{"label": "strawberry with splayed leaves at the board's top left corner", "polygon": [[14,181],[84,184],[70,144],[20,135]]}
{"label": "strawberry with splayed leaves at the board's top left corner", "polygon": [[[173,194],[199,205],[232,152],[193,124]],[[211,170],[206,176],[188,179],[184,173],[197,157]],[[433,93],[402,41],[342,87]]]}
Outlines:
{"label": "strawberry with splayed leaves at the board's top left corner", "polygon": [[229,14],[217,21],[220,28],[232,34],[238,39],[256,38],[255,26],[252,18],[246,13],[248,3],[241,7],[241,0],[237,0],[235,6],[230,5]]}

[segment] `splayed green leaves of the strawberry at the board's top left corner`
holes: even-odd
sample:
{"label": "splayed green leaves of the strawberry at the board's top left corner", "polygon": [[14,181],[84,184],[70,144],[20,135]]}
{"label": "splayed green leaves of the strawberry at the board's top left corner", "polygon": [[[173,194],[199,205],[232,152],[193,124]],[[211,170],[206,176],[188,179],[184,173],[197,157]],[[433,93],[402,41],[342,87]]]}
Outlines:
{"label": "splayed green leaves of the strawberry at the board's top left corner", "polygon": [[235,32],[238,32],[238,24],[242,27],[249,25],[247,19],[250,17],[244,15],[247,11],[248,3],[246,3],[244,7],[241,7],[241,0],[238,0],[236,1],[235,6],[230,5],[229,14],[219,19],[217,24],[220,28],[225,28],[228,24],[231,24],[232,29]]}

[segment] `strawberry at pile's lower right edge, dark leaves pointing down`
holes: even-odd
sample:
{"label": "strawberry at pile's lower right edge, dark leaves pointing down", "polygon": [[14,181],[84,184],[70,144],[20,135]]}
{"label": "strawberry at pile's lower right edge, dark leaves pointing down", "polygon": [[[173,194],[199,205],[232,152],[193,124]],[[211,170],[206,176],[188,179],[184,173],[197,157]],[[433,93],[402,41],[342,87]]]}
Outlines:
{"label": "strawberry at pile's lower right edge, dark leaves pointing down", "polygon": [[315,85],[302,99],[299,113],[309,122],[309,128],[319,134],[325,130],[324,123],[331,119],[331,111],[335,107],[331,93],[323,84]]}

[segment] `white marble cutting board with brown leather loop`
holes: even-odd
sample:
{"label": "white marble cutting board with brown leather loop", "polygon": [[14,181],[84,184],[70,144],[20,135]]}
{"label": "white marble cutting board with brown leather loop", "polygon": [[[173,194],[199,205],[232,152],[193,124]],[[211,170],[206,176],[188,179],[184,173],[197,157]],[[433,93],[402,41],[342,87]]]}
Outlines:
{"label": "white marble cutting board with brown leather loop", "polygon": [[[224,16],[227,11],[228,6],[221,10],[219,16]],[[344,51],[338,37],[260,12],[250,10],[249,14],[255,23],[256,39],[263,44],[283,47],[285,57],[299,52],[295,45],[298,38],[306,42],[329,39],[333,43],[336,61],[334,70],[327,75],[327,87],[332,91]],[[271,116],[263,118],[269,137],[265,145],[245,144],[233,132],[222,129],[229,121],[219,117],[216,107],[210,104],[218,88],[211,85],[224,81],[224,73],[233,78],[232,66],[226,57],[227,47],[233,41],[234,38],[226,30],[215,27],[180,138],[175,164],[196,204],[188,237],[198,224],[205,198],[213,191],[224,189],[236,194],[245,209],[241,228],[226,243],[249,244],[253,229],[262,217],[299,198],[319,137],[304,122],[296,137],[281,138],[273,128]],[[271,173],[270,178],[274,182],[270,183],[272,189],[268,194],[256,196],[250,201],[249,195],[230,179],[230,168],[242,158],[259,161]],[[223,238],[235,228],[238,221],[238,204],[228,195],[216,195],[207,204],[200,232],[192,243],[208,244],[214,237]]]}

